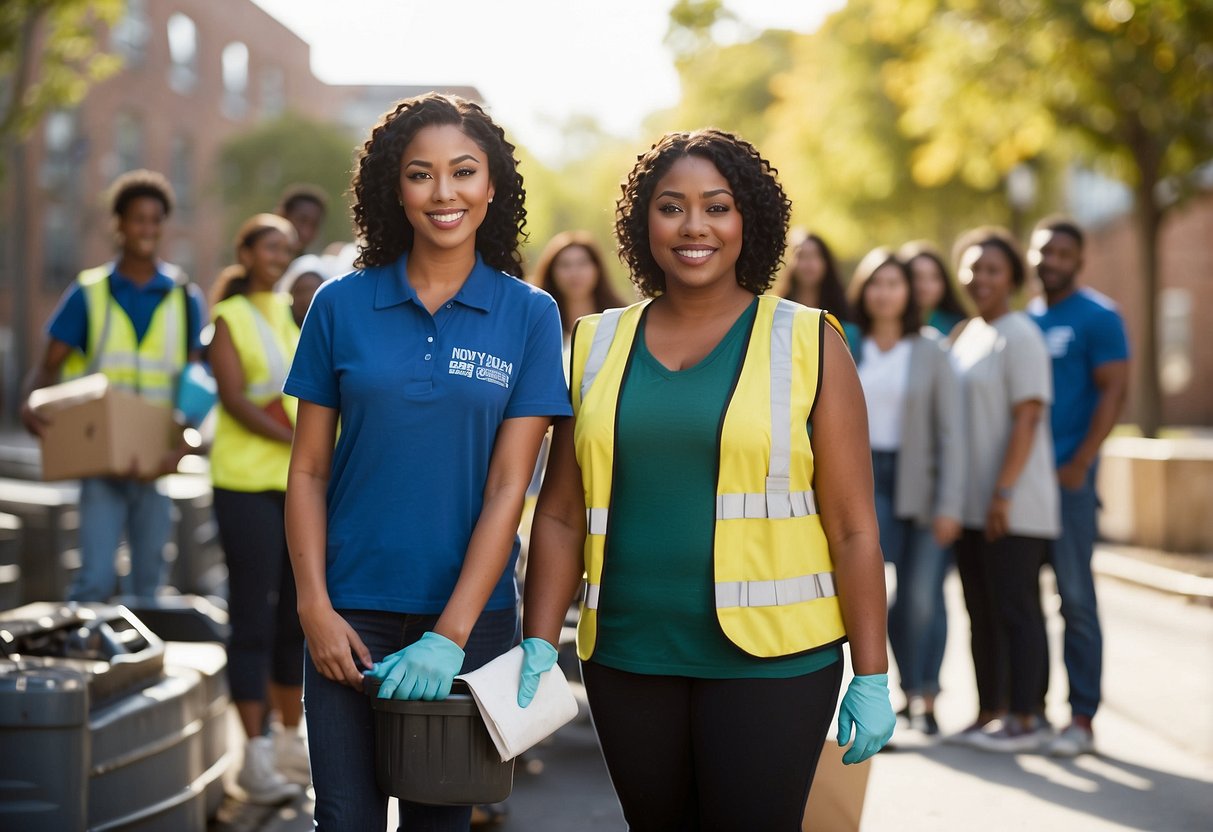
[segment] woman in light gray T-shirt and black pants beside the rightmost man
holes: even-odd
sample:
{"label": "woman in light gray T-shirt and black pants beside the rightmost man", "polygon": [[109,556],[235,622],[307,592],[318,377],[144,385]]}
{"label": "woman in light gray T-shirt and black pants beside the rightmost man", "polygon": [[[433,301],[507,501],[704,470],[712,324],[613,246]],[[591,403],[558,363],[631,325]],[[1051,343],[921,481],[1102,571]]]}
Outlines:
{"label": "woman in light gray T-shirt and black pants beside the rightmost man", "polygon": [[976,722],[957,739],[991,751],[1032,751],[1050,734],[1040,713],[1048,683],[1040,569],[1060,529],[1050,359],[1040,329],[1010,307],[1025,279],[1010,234],[979,228],[961,238],[957,251],[961,283],[979,314],[953,335],[952,364],[968,463],[956,565],[980,701]]}

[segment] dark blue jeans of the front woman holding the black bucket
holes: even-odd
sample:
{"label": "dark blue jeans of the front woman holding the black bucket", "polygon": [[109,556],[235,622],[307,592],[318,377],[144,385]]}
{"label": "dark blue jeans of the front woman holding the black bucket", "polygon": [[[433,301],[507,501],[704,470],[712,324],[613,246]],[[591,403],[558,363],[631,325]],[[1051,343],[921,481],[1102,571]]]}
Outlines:
{"label": "dark blue jeans of the front woman holding the black bucket", "polygon": [[[437,615],[375,610],[338,610],[358,632],[375,661],[433,629]],[[518,644],[518,610],[486,611],[463,645],[463,669],[473,671]],[[315,787],[315,828],[378,832],[387,826],[387,798],[375,782],[375,718],[361,691],[326,679],[308,654],[303,667],[307,718]],[[404,832],[466,832],[472,807],[435,807],[400,800]]]}

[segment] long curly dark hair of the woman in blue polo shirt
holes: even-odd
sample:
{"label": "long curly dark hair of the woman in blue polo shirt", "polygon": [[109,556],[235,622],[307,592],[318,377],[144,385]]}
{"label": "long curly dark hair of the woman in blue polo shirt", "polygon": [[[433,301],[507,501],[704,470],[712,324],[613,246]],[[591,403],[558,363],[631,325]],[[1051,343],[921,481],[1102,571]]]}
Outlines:
{"label": "long curly dark hair of the woman in blue polo shirt", "polygon": [[359,268],[387,266],[412,247],[412,226],[400,211],[400,156],[422,127],[455,125],[489,158],[494,200],[475,232],[475,250],[495,269],[523,277],[518,246],[526,238],[526,190],[514,146],[479,104],[431,92],[405,98],[386,113],[363,146],[354,172],[354,227]]}

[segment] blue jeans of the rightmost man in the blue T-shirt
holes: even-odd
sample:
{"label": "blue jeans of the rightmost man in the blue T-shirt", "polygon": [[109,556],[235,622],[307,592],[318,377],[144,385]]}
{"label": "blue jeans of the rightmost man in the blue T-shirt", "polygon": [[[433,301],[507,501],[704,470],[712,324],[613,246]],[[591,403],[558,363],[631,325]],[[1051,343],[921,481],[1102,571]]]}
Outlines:
{"label": "blue jeans of the rightmost man in the blue T-shirt", "polygon": [[1070,710],[1080,717],[1094,717],[1099,708],[1104,637],[1095,606],[1095,580],[1090,557],[1095,551],[1095,468],[1092,466],[1082,488],[1061,491],[1061,536],[1053,542],[1052,563],[1061,595],[1065,619],[1063,656],[1070,678]]}

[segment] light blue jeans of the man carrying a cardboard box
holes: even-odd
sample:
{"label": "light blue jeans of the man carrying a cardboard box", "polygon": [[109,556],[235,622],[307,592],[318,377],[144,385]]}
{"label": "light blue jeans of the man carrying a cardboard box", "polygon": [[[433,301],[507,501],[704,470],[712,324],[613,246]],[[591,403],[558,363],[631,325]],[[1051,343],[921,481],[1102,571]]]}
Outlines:
{"label": "light blue jeans of the man carrying a cardboard box", "polygon": [[80,481],[80,571],[68,600],[104,602],[114,594],[114,554],[126,532],[131,572],[123,594],[150,598],[164,582],[164,545],[172,531],[172,507],[155,483],[90,477]]}

